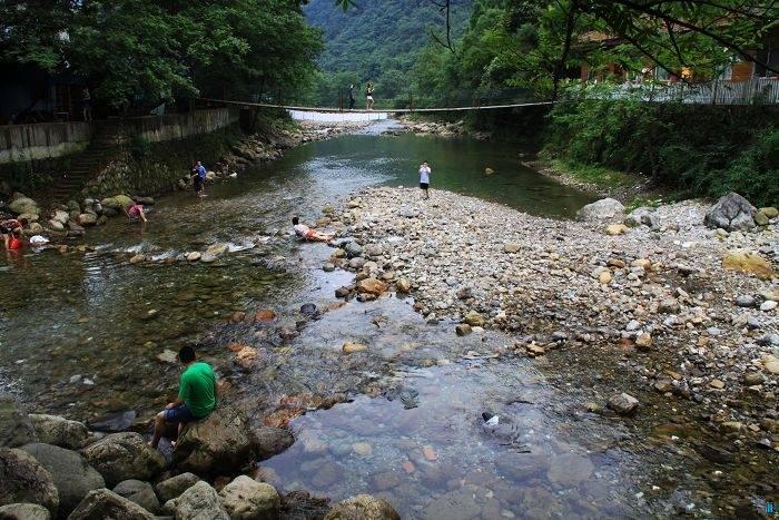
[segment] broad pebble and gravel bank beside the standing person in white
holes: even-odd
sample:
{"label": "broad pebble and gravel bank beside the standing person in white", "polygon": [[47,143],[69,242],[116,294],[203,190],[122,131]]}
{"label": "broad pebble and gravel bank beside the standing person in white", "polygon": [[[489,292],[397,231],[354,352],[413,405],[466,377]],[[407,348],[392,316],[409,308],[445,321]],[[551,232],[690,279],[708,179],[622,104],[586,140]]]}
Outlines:
{"label": "broad pebble and gravel bank beside the standing person in white", "polygon": [[612,236],[608,222],[533,217],[446,192],[422,200],[414,189],[372,188],[342,219],[369,261],[357,279],[366,272],[403,278],[428,322],[451,323],[452,334],[457,323],[458,334],[476,326],[512,332],[521,356],[611,350],[628,361],[613,369],[634,375],[632,387],[615,391],[691,400],[723,434],[769,439],[776,452],[779,292],[770,279],[723,268],[723,258],[751,251],[776,262],[779,225],[773,218],[753,233],[714,232],[703,226],[704,212],[699,202],[662,206],[653,228]]}

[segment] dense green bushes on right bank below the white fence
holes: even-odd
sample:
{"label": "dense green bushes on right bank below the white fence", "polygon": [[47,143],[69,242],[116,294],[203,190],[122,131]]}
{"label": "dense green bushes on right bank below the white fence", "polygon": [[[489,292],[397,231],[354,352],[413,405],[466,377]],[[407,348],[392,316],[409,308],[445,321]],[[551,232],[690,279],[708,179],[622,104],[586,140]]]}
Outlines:
{"label": "dense green bushes on right bank below the white fence", "polygon": [[779,128],[770,107],[586,99],[550,115],[544,154],[569,165],[650,175],[691,194],[736,190],[779,203]]}

